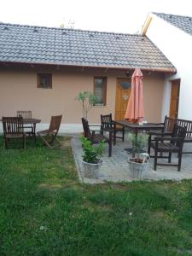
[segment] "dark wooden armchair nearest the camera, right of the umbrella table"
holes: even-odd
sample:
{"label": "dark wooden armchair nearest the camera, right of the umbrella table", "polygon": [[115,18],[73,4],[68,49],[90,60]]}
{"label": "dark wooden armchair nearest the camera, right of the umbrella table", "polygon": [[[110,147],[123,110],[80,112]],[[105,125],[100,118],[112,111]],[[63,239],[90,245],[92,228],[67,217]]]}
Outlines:
{"label": "dark wooden armchair nearest the camera, right of the umbrella table", "polygon": [[[148,154],[150,155],[150,148],[154,148],[154,171],[156,171],[157,166],[177,166],[177,171],[181,170],[181,160],[183,152],[183,142],[186,136],[186,127],[174,125],[172,135],[170,137],[164,137],[165,133],[159,134],[161,137],[154,137],[154,142],[151,141],[151,136],[148,137]],[[162,137],[163,136],[163,137]],[[167,142],[167,143],[165,143]],[[160,155],[158,155],[160,153]],[[168,153],[168,156],[163,156],[162,153]],[[177,165],[171,164],[172,153],[177,153],[178,163]],[[167,158],[169,164],[157,163],[158,158]]]}

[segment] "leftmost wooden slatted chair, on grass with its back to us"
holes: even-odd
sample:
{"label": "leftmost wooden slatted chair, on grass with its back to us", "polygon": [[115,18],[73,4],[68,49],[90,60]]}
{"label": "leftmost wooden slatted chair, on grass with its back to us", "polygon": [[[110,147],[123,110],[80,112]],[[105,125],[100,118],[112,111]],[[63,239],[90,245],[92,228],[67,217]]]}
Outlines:
{"label": "leftmost wooden slatted chair, on grass with its back to us", "polygon": [[20,139],[23,148],[26,148],[26,134],[23,128],[22,117],[3,117],[3,149],[9,148],[12,139]]}

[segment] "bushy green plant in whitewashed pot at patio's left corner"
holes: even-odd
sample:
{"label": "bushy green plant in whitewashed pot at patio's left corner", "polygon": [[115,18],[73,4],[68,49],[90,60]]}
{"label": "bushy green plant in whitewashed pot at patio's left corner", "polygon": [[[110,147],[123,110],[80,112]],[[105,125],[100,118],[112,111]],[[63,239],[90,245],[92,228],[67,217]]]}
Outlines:
{"label": "bushy green plant in whitewashed pot at patio's left corner", "polygon": [[102,154],[105,143],[101,142],[93,145],[90,140],[85,137],[80,137],[84,154],[82,155],[82,166],[84,177],[98,178],[99,171],[102,166]]}

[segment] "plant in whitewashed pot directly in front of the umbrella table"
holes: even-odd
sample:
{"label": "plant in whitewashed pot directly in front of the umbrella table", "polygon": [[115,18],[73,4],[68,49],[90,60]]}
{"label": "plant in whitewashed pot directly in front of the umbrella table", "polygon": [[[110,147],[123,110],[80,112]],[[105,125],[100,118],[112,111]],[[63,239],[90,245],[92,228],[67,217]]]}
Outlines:
{"label": "plant in whitewashed pot directly in front of the umbrella table", "polygon": [[141,134],[128,134],[128,141],[132,144],[132,155],[128,160],[130,164],[131,177],[141,178],[144,177],[148,170],[149,155],[143,153],[143,148],[148,142],[148,135]]}

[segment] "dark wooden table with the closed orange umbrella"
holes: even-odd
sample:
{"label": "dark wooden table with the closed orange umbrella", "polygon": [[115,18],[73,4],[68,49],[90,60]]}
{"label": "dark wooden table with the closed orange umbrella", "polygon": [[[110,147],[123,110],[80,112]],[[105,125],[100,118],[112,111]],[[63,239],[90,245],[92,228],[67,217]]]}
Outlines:
{"label": "dark wooden table with the closed orange umbrella", "polygon": [[114,124],[114,137],[113,137],[113,145],[116,144],[116,125],[121,125],[125,128],[128,128],[129,130],[133,131],[136,135],[138,131],[150,131],[150,130],[155,130],[155,131],[163,131],[164,125],[161,124],[155,124],[155,123],[146,123],[143,125],[138,125],[138,124],[132,124],[129,123],[127,120],[115,120],[113,121]]}

